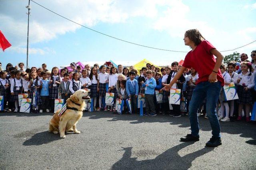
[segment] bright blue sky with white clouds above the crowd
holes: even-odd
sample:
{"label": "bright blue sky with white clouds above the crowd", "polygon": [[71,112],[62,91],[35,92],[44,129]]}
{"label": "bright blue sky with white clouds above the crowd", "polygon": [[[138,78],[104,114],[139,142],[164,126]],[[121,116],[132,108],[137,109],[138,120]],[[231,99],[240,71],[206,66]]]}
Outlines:
{"label": "bright blue sky with white clouds above the crowd", "polygon": [[[161,49],[189,51],[183,37],[192,28],[200,30],[220,51],[256,40],[256,0],[34,1],[104,34]],[[121,42],[60,18],[34,2],[30,4],[30,67],[46,63],[51,68],[70,62],[110,59],[171,62],[186,55]],[[26,63],[26,5],[28,0],[0,0],[0,30],[12,44],[5,52],[0,51],[4,67],[9,62]],[[250,54],[255,49],[256,42],[236,51]]]}

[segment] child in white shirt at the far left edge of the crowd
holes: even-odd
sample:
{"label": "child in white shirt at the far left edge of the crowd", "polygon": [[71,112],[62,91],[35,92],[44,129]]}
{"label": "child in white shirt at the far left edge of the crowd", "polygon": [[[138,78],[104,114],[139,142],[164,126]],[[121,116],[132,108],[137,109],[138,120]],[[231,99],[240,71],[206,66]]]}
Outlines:
{"label": "child in white shirt at the far left edge of the crowd", "polygon": [[10,112],[11,109],[6,109],[6,104],[9,101],[9,96],[7,95],[7,89],[10,88],[9,80],[6,79],[7,71],[0,71],[0,95],[4,96],[4,111]]}

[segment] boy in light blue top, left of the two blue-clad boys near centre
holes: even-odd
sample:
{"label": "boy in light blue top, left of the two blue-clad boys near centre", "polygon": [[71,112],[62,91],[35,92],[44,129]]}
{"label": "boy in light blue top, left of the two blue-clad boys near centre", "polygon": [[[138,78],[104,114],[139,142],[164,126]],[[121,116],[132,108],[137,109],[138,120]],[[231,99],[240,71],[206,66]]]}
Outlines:
{"label": "boy in light blue top, left of the two blue-clad boys near centre", "polygon": [[128,97],[131,99],[132,113],[137,113],[137,97],[139,93],[138,81],[134,79],[135,72],[129,72],[130,79],[126,81],[126,92]]}

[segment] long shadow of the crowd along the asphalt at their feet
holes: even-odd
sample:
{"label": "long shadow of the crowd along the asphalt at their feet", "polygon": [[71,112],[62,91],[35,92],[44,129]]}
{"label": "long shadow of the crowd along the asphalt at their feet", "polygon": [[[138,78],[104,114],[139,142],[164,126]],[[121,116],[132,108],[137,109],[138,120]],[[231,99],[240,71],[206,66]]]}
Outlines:
{"label": "long shadow of the crowd along the asphalt at their feet", "polygon": [[[130,114],[113,114],[110,112],[85,112],[83,117],[88,117],[89,119],[104,119],[110,118],[111,120],[107,121],[130,121],[131,124],[138,123],[170,123],[170,125],[178,125],[181,128],[190,127],[190,121],[188,116],[182,117],[170,117],[169,115],[157,115],[155,117],[150,116],[138,116],[138,115],[130,115]],[[211,131],[212,128],[210,126],[210,122],[208,119],[204,119],[204,117],[199,117],[199,126],[200,130],[203,131]],[[246,141],[248,144],[254,144],[256,142],[256,123],[250,122],[221,122],[220,121],[221,132],[228,134],[240,134],[241,137],[244,138],[252,138],[252,140]],[[184,134],[185,136],[186,134]]]}

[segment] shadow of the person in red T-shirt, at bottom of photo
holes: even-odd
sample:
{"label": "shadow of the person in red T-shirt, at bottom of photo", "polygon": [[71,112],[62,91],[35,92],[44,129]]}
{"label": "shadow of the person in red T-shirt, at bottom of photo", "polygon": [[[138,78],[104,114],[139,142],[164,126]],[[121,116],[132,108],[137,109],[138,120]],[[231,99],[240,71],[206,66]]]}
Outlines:
{"label": "shadow of the person in red T-shirt, at bottom of photo", "polygon": [[[188,169],[191,167],[193,160],[214,149],[205,147],[185,156],[180,156],[178,154],[179,150],[193,143],[194,142],[183,142],[156,156],[155,159],[148,160],[137,160],[137,158],[131,158],[132,147],[123,148],[124,154],[122,158],[113,164],[111,169]],[[146,150],[144,153],[147,153]]]}

